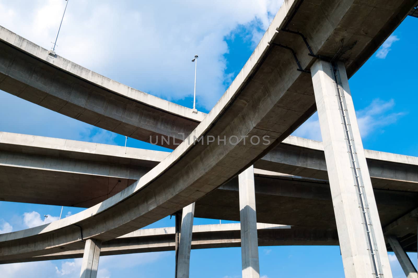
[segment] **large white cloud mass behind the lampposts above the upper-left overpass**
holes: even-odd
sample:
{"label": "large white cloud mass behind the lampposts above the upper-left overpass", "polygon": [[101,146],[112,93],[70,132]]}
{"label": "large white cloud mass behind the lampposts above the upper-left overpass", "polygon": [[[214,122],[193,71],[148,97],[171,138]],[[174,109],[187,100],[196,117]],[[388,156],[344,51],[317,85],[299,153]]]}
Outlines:
{"label": "large white cloud mass behind the lampposts above the upper-left overpass", "polygon": [[[65,1],[0,0],[0,22],[49,48]],[[224,93],[225,37],[244,26],[258,43],[283,0],[126,1],[73,0],[69,3],[56,52],[139,90],[168,99],[193,94],[194,64],[198,102],[212,108]],[[25,18],[25,20],[21,20]]]}

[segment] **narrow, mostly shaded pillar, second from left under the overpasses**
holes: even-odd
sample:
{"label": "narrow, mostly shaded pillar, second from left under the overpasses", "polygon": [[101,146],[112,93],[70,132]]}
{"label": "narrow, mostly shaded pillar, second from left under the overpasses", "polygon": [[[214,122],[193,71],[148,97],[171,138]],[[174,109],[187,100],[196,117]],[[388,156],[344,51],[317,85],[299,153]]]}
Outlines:
{"label": "narrow, mostly shaded pillar, second from left under the overpasses", "polygon": [[194,203],[183,208],[180,242],[176,261],[176,278],[189,278],[191,235],[193,233]]}

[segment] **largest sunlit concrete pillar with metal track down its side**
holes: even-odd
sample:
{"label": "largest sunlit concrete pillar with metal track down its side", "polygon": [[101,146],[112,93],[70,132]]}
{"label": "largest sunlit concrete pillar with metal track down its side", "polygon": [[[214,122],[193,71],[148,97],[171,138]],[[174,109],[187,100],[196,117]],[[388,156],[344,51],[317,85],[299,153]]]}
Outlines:
{"label": "largest sunlit concrete pillar with metal track down its side", "polygon": [[391,278],[344,64],[317,60],[311,74],[345,276]]}

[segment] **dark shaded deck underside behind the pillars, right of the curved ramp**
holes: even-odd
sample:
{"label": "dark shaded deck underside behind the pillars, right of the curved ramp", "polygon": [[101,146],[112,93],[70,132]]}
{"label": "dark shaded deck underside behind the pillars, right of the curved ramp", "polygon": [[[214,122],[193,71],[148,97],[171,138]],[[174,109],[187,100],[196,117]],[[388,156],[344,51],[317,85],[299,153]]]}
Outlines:
{"label": "dark shaded deck underside behind the pillars, right of the curved ramp", "polygon": [[[418,193],[375,189],[374,194],[383,227],[418,207]],[[255,200],[257,221],[336,229],[327,181],[256,175]],[[198,200],[195,216],[239,221],[238,206],[238,181],[232,180]],[[393,235],[416,235],[416,219],[408,216],[405,221],[397,223],[398,226],[392,229]],[[413,239],[416,243],[416,236]],[[416,252],[416,244],[411,244],[406,250]]]}

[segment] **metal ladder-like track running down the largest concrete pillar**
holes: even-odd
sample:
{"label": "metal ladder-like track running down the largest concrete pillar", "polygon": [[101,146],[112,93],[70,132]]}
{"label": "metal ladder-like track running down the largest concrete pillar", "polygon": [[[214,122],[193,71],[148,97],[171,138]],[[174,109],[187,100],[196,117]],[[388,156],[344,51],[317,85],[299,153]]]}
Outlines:
{"label": "metal ladder-like track running down the largest concrete pillar", "polygon": [[377,241],[375,231],[372,225],[372,218],[370,216],[369,203],[367,195],[364,190],[364,183],[362,173],[358,164],[356,145],[352,134],[352,127],[348,115],[347,103],[345,101],[344,90],[342,89],[341,77],[339,74],[336,62],[330,63],[331,71],[334,75],[334,84],[336,88],[336,97],[338,100],[339,111],[341,116],[342,127],[344,128],[344,138],[347,144],[347,153],[349,155],[354,186],[357,192],[357,201],[359,203],[359,210],[362,215],[362,224],[364,228],[364,235],[366,237],[370,255],[370,263],[372,265],[372,274],[375,278],[383,278],[382,264],[380,263],[380,255],[377,250]]}

